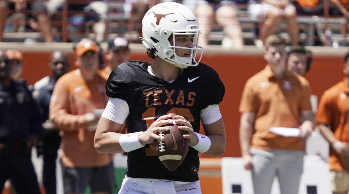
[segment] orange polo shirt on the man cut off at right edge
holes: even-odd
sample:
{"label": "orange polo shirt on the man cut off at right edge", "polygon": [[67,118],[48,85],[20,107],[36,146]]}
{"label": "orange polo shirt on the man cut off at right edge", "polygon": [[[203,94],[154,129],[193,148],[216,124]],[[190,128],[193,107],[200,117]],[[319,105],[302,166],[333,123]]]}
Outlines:
{"label": "orange polo shirt on the man cut off at right edge", "polygon": [[[349,86],[347,79],[344,78],[342,82],[325,91],[315,117],[317,123],[331,126],[334,136],[343,142],[349,141]],[[343,170],[343,165],[338,158],[339,156],[330,146],[328,163],[331,170]]]}

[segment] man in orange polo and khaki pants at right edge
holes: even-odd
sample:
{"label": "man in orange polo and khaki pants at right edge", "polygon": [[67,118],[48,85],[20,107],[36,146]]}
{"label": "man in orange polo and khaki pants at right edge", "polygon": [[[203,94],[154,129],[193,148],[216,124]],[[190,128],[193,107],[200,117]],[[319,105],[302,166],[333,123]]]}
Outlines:
{"label": "man in orange polo and khaki pants at right edge", "polygon": [[344,56],[346,77],[322,95],[316,115],[319,130],[330,144],[329,169],[334,194],[349,190],[349,53]]}

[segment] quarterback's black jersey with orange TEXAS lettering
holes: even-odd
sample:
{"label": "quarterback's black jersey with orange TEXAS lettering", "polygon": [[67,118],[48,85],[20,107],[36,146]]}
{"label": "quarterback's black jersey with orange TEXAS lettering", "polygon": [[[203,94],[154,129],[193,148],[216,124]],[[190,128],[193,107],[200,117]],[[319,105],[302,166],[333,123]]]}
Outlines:
{"label": "quarterback's black jersey with orange TEXAS lettering", "polygon": [[[125,100],[129,107],[126,118],[128,133],[146,131],[160,116],[176,113],[186,117],[195,132],[200,131],[200,111],[219,104],[225,92],[217,72],[200,63],[184,69],[169,83],[150,75],[151,63],[129,61],[114,69],[106,83],[106,94]],[[153,144],[128,153],[127,176],[193,182],[198,180],[199,154],[191,148],[183,163],[169,171],[158,159]]]}

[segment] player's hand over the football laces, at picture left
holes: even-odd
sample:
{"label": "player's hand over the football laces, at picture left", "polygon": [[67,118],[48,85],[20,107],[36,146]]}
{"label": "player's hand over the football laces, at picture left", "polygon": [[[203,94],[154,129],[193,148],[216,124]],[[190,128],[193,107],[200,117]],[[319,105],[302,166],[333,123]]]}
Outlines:
{"label": "player's hand over the football laces, at picture left", "polygon": [[161,137],[156,133],[169,130],[168,127],[162,127],[162,125],[169,125],[173,123],[173,120],[166,120],[169,118],[171,118],[171,115],[163,115],[158,119],[156,119],[156,121],[154,121],[154,123],[150,125],[147,131],[144,131],[139,135],[138,137],[139,142],[142,145],[146,145],[149,143],[153,143],[154,139],[157,139],[159,141],[164,140],[164,137]]}

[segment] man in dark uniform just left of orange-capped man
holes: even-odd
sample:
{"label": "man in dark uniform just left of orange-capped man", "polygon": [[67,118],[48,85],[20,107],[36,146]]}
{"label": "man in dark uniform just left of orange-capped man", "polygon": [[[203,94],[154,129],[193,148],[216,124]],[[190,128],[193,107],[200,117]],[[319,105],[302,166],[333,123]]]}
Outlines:
{"label": "man in dark uniform just left of orange-capped man", "polygon": [[69,59],[66,53],[54,51],[51,54],[49,68],[52,71],[51,76],[40,79],[34,85],[32,92],[34,99],[39,104],[42,113],[43,133],[43,184],[46,194],[56,193],[56,158],[61,138],[59,130],[55,128],[49,119],[49,105],[52,91],[58,78],[68,72]]}

